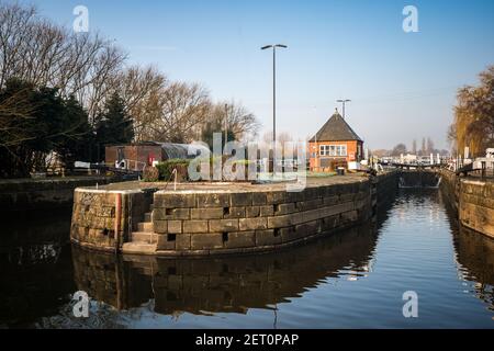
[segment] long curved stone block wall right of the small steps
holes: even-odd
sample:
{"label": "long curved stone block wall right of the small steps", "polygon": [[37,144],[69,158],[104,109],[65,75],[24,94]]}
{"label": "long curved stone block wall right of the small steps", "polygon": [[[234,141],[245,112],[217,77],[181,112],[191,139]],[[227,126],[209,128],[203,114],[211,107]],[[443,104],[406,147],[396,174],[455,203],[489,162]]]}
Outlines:
{"label": "long curved stone block wall right of the small steps", "polygon": [[234,253],[283,247],[352,226],[371,214],[370,182],[317,185],[302,192],[157,192],[157,251]]}

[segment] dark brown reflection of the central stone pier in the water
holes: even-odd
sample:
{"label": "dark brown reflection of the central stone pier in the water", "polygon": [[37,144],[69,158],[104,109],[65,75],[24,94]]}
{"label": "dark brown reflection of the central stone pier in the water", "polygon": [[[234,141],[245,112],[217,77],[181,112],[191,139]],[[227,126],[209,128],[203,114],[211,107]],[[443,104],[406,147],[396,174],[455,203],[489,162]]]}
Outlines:
{"label": "dark brown reflection of the central stone pier in the water", "polygon": [[128,309],[155,298],[155,312],[236,312],[303,294],[345,269],[363,278],[375,247],[371,226],[353,227],[291,250],[239,257],[158,259],[74,249],[78,288]]}

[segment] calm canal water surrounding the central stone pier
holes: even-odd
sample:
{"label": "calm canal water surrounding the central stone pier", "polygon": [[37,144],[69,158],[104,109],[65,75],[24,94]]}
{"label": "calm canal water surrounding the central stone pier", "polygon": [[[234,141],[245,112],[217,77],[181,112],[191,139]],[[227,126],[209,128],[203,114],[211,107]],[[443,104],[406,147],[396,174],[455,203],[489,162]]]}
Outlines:
{"label": "calm canal water surrounding the central stone pier", "polygon": [[[68,244],[69,220],[4,220],[0,328],[494,328],[494,240],[460,228],[438,190],[401,190],[374,223],[237,258],[88,252]],[[77,291],[88,318],[74,317]]]}

